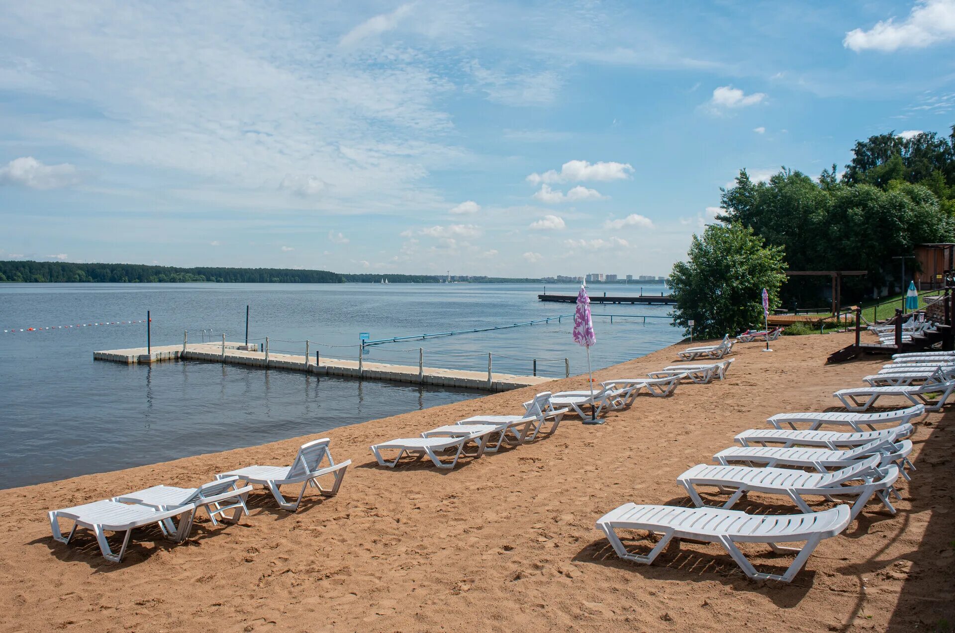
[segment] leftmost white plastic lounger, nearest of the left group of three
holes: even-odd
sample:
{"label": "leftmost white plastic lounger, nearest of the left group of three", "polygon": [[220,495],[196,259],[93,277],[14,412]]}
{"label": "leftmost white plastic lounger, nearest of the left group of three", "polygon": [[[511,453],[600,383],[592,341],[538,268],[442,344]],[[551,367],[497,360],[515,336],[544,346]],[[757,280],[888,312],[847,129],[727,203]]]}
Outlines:
{"label": "leftmost white plastic lounger, nearest of the left group of three", "polygon": [[[129,539],[133,534],[134,528],[152,523],[161,524],[167,519],[181,516],[179,528],[176,530],[175,536],[170,537],[165,530],[163,530],[163,535],[176,542],[182,542],[192,528],[192,518],[195,513],[196,507],[191,504],[186,504],[173,510],[159,511],[144,505],[130,505],[128,503],[119,503],[118,501],[103,499],[102,501],[77,505],[73,508],[52,510],[49,516],[50,528],[53,531],[54,539],[61,543],[69,543],[70,539],[72,539],[76,533],[77,527],[88,528],[93,530],[93,533],[96,535],[96,542],[99,544],[99,551],[103,553],[103,558],[112,562],[121,562],[123,555],[126,553],[126,547],[129,545]],[[60,533],[58,521],[60,518],[72,519],[74,521],[73,528],[66,537]],[[113,550],[110,549],[109,541],[106,540],[106,532],[126,533],[118,554],[114,554]]]}

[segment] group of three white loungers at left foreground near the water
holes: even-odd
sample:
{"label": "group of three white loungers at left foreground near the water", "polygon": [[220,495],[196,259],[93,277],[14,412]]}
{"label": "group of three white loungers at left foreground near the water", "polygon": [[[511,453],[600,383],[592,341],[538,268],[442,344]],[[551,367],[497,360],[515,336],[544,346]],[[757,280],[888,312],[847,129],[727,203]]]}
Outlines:
{"label": "group of three white loungers at left foreground near the water", "polygon": [[[72,508],[51,510],[53,538],[69,544],[77,528],[92,530],[103,557],[120,562],[135,528],[156,524],[164,538],[181,543],[189,538],[193,520],[201,510],[208,514],[213,525],[218,525],[228,511],[232,511],[231,521],[238,522],[243,515],[248,515],[245,501],[253,484],[268,489],[280,508],[295,512],[309,486],[323,496],[334,496],[342,485],[351,460],[335,463],[329,451],[329,441],[329,438],[323,438],[302,445],[290,466],[247,466],[216,475],[215,481],[198,488],[159,485]],[[323,466],[323,463],[327,465]],[[323,487],[319,477],[330,477],[330,487]],[[283,496],[279,489],[280,486],[298,484],[302,488],[294,501]],[[173,521],[177,517],[178,523]],[[73,522],[65,537],[61,520]],[[123,533],[118,552],[113,552],[106,532]]]}

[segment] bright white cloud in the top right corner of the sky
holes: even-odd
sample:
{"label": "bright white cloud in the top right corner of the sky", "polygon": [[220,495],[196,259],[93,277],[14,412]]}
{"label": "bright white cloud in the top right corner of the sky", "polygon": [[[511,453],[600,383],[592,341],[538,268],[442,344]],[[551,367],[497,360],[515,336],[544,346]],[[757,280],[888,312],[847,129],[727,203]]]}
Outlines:
{"label": "bright white cloud in the top right corner of the sky", "polygon": [[890,17],[868,31],[847,32],[842,46],[856,52],[872,49],[891,53],[923,49],[950,39],[955,39],[955,0],[917,0],[902,22]]}

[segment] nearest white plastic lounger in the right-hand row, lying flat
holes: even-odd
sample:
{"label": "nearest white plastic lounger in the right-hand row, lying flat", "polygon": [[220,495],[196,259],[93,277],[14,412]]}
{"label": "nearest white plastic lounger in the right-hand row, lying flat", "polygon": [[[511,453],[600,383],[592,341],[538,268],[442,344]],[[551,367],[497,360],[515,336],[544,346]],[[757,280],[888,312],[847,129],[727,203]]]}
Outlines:
{"label": "nearest white plastic lounger in the right-hand row, lying flat", "polygon": [[[672,538],[690,538],[719,543],[742,568],[743,573],[753,580],[789,582],[796,578],[820,540],[835,537],[850,522],[852,517],[846,505],[804,515],[753,516],[739,510],[720,508],[626,503],[597,519],[597,529],[606,535],[617,556],[625,560],[651,564]],[[632,554],[626,550],[616,530],[647,530],[663,538],[648,554]],[[776,544],[800,541],[805,541],[801,548]],[[776,553],[795,553],[796,559],[782,574],[758,572],[736,546],[740,542],[766,543]]]}

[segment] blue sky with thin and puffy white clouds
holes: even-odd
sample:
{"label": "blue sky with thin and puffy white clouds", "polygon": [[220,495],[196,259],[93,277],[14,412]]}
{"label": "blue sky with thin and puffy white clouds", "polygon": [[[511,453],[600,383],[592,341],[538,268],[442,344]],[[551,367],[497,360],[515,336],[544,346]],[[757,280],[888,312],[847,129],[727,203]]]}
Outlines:
{"label": "blue sky with thin and puffy white clouds", "polygon": [[0,0],[0,260],[667,275],[953,108],[955,0]]}

